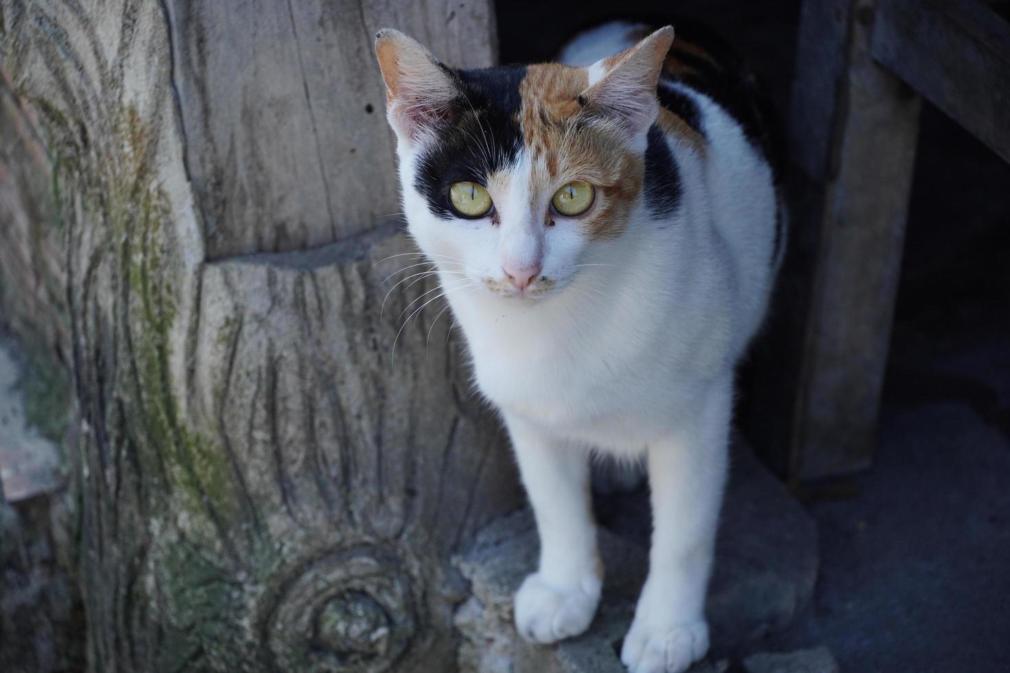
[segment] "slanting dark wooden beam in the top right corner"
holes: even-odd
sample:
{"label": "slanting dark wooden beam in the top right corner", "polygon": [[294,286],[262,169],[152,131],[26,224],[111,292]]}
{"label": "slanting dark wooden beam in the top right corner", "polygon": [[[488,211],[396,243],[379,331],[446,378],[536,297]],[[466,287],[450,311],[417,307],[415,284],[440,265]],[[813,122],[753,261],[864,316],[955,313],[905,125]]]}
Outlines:
{"label": "slanting dark wooden beam in the top right corner", "polygon": [[874,58],[1010,161],[1010,23],[970,0],[882,0]]}

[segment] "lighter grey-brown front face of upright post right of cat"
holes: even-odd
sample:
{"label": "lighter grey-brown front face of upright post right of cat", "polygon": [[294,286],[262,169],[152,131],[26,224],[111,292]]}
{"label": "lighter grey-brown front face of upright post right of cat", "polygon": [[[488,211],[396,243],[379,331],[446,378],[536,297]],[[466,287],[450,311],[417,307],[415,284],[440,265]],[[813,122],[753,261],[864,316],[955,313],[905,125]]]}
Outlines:
{"label": "lighter grey-brown front face of upright post right of cat", "polygon": [[873,62],[871,7],[855,4],[838,174],[821,213],[794,427],[801,479],[864,468],[876,444],[920,101]]}

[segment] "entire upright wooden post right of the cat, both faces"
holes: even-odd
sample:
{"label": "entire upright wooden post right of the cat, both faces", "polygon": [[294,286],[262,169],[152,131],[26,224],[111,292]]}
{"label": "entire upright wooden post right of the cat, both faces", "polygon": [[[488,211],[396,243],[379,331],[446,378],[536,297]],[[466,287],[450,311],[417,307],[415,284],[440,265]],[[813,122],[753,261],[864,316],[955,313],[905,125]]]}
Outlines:
{"label": "entire upright wooden post right of the cat, both faces", "polygon": [[753,376],[778,406],[748,410],[794,480],[865,468],[876,440],[920,101],[871,57],[874,5],[806,0],[801,15],[791,257]]}

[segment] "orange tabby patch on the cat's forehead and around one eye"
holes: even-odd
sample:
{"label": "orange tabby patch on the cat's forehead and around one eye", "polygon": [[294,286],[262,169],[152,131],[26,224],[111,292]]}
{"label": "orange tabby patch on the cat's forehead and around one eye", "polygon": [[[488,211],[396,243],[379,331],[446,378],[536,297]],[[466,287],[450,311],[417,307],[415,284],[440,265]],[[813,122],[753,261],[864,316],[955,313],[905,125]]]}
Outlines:
{"label": "orange tabby patch on the cat's forehead and around one eye", "polygon": [[596,201],[578,218],[590,240],[617,238],[641,194],[643,157],[618,131],[586,123],[579,96],[589,87],[584,68],[530,66],[519,87],[523,142],[530,157],[532,208],[550,214],[554,192],[573,180],[596,188]]}

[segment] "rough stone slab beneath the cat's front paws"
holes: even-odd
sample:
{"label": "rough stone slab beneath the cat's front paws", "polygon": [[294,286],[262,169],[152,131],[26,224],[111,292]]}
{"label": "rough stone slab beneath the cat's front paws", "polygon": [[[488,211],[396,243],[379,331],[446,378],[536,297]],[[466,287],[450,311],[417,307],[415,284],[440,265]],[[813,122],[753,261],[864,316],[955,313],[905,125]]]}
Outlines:
{"label": "rough stone slab beneath the cat's front paws", "polygon": [[[803,508],[739,442],[733,456],[707,605],[716,654],[788,624],[809,600],[818,566],[816,530]],[[512,626],[512,594],[536,564],[532,513],[519,510],[482,530],[456,559],[473,592],[456,614],[463,635],[461,670],[623,671],[620,643],[648,563],[644,495],[611,497],[600,508],[606,527],[599,529],[599,544],[607,568],[600,610],[586,635],[553,647],[524,643]],[[693,670],[712,666],[701,662]]]}

